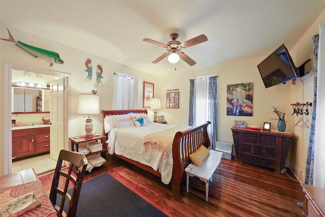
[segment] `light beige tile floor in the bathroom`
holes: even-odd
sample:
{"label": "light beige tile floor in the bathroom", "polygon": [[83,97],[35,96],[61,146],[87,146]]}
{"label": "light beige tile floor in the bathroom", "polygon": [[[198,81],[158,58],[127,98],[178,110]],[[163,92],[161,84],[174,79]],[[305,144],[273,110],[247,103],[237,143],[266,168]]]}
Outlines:
{"label": "light beige tile floor in the bathroom", "polygon": [[56,161],[50,158],[50,154],[28,158],[21,161],[12,162],[12,172],[21,171],[28,168],[34,168],[37,174],[54,169]]}

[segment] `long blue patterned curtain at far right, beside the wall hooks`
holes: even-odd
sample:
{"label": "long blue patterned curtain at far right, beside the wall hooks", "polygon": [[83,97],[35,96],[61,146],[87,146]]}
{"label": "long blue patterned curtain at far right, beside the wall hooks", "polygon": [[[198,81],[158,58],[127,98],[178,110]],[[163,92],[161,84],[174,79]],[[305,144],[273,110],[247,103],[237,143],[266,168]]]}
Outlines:
{"label": "long blue patterned curtain at far right, beside the wall hooks", "polygon": [[313,74],[314,74],[314,100],[311,118],[310,137],[306,160],[305,183],[313,185],[314,176],[314,151],[315,151],[315,122],[316,122],[316,98],[317,98],[317,64],[318,64],[318,41],[319,34],[312,37],[313,42]]}

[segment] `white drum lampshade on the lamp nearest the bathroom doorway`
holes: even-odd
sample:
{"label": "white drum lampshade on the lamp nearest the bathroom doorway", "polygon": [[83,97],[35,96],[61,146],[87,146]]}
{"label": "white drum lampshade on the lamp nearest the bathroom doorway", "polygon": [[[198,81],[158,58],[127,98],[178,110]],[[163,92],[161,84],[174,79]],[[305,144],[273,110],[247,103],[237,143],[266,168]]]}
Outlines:
{"label": "white drum lampshade on the lamp nearest the bathroom doorway", "polygon": [[100,97],[92,94],[79,94],[78,114],[99,114]]}

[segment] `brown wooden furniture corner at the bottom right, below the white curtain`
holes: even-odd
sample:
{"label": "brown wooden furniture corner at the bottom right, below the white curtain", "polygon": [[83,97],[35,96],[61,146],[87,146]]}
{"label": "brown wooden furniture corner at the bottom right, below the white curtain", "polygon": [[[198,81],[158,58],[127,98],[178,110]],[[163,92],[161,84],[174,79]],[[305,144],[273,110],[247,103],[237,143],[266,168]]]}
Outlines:
{"label": "brown wooden furniture corner at the bottom right, below the white curtain", "polygon": [[308,217],[325,216],[325,188],[300,184],[303,189],[303,215]]}

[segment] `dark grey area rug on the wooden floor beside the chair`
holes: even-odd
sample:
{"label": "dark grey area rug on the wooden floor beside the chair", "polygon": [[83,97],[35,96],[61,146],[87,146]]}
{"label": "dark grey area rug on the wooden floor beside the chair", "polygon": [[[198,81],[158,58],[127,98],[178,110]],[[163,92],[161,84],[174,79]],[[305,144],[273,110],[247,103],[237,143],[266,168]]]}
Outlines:
{"label": "dark grey area rug on the wooden floor beside the chair", "polygon": [[[72,191],[68,192],[71,194]],[[82,184],[76,216],[167,215],[104,173]]]}

